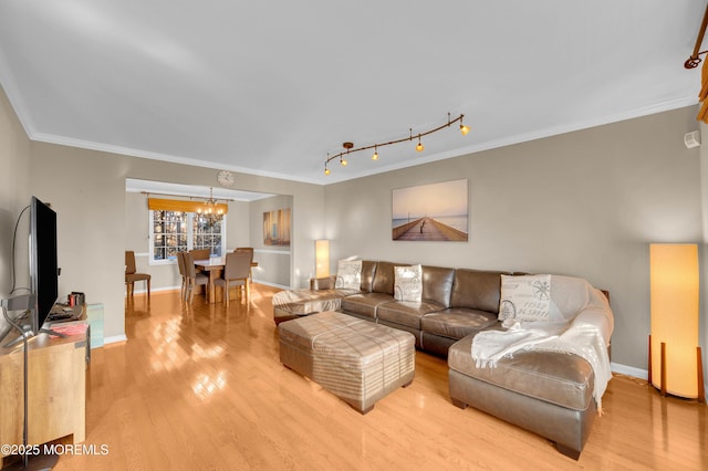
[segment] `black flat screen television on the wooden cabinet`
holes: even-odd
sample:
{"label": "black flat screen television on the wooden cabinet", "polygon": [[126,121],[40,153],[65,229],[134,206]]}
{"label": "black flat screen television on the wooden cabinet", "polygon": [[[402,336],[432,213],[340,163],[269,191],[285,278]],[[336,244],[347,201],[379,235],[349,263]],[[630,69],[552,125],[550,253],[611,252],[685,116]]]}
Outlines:
{"label": "black flat screen television on the wooden cabinet", "polygon": [[30,207],[30,283],[37,297],[31,325],[37,335],[59,297],[56,212],[37,197]]}

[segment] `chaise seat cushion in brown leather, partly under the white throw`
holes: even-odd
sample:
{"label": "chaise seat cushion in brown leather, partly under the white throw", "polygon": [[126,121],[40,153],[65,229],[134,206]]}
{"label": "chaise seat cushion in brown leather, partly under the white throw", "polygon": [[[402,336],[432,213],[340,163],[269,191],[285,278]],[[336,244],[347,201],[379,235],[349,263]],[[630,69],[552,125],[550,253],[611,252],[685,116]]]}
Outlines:
{"label": "chaise seat cushion in brown leather, partly under the white throw", "polygon": [[448,365],[464,375],[573,410],[587,409],[593,399],[593,368],[577,355],[524,350],[503,357],[493,368],[477,367],[472,359],[475,334],[448,350]]}

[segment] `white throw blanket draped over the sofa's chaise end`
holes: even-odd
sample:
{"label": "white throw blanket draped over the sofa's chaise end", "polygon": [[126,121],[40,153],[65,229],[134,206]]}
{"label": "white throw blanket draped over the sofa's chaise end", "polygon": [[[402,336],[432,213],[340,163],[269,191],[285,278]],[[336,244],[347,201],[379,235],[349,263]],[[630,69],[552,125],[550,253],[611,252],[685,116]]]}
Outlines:
{"label": "white throw blanket draped over the sofa's chaise end", "polygon": [[[579,355],[593,368],[593,398],[602,414],[602,396],[612,379],[608,338],[614,327],[612,310],[604,295],[589,286],[586,305],[569,323],[513,323],[508,331],[480,332],[472,339],[472,359],[478,368],[497,366],[514,352],[541,349]],[[581,294],[581,293],[579,293]],[[509,321],[507,321],[509,322]]]}

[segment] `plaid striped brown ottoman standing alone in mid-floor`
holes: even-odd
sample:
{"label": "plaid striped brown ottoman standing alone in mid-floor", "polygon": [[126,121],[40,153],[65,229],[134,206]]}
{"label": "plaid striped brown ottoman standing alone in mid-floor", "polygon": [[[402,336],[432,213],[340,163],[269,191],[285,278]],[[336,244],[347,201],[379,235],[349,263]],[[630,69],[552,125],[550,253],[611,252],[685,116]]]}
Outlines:
{"label": "plaid striped brown ottoman standing alone in mid-floor", "polygon": [[413,381],[415,337],[337,312],[278,325],[280,360],[362,414]]}

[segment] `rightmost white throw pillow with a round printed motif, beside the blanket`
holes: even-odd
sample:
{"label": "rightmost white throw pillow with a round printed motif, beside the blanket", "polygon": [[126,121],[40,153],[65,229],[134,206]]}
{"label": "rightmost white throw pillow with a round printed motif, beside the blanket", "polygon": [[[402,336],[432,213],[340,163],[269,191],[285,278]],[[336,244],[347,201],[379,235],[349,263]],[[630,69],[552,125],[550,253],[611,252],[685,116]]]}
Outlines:
{"label": "rightmost white throw pillow with a round printed motif, beside the blanket", "polygon": [[551,275],[501,275],[499,321],[549,321]]}

